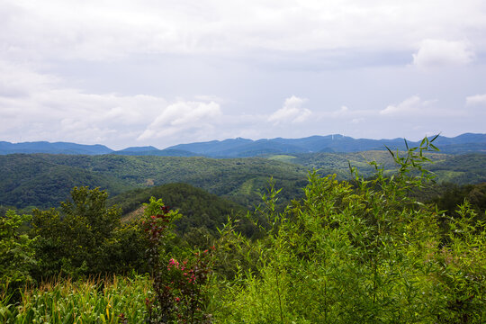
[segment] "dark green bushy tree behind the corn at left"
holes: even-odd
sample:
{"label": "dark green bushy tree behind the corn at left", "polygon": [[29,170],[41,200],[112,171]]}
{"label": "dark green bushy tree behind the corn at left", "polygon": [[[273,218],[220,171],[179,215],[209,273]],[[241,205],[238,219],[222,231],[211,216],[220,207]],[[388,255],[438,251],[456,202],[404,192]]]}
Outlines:
{"label": "dark green bushy tree behind the corn at left", "polygon": [[123,273],[143,268],[146,243],[136,223],[121,224],[121,211],[108,208],[108,193],[75,187],[60,211],[34,210],[31,235],[38,237],[36,277]]}

